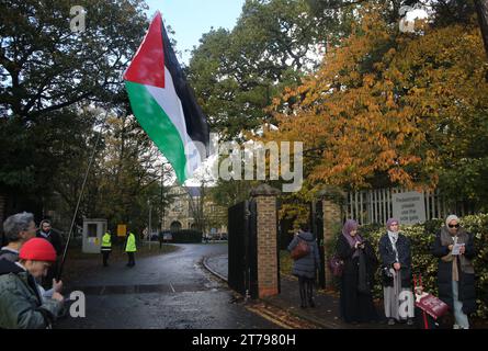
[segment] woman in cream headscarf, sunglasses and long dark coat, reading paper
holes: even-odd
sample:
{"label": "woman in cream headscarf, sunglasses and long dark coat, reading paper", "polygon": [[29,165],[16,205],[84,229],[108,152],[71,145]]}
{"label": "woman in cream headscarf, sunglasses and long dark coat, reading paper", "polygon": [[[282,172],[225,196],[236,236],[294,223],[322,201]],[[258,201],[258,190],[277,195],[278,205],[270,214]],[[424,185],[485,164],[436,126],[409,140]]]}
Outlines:
{"label": "woman in cream headscarf, sunglasses and long dark coat, reading paper", "polygon": [[439,258],[439,298],[454,312],[455,329],[469,328],[469,314],[476,312],[476,257],[473,236],[459,226],[459,218],[450,215],[435,237],[432,253]]}

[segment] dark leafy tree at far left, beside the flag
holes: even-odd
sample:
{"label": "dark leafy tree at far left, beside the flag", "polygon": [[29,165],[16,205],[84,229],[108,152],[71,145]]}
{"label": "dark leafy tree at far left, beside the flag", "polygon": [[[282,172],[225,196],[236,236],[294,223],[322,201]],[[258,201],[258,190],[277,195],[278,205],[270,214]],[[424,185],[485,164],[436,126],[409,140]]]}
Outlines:
{"label": "dark leafy tree at far left, beside the flag", "polygon": [[[147,26],[140,0],[0,2],[0,192],[42,197],[58,170],[80,156],[89,102],[118,103],[121,73]],[[81,152],[81,151],[80,151]],[[66,167],[65,167],[66,169]]]}

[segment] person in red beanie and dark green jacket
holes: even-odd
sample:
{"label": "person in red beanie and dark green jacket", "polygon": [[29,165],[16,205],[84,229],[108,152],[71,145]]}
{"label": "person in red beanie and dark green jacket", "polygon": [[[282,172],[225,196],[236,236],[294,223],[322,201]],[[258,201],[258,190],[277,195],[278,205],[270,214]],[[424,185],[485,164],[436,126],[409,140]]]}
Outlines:
{"label": "person in red beanie and dark green jacket", "polygon": [[45,276],[56,260],[50,242],[41,238],[26,241],[19,262],[0,260],[0,329],[50,328],[60,314],[64,297],[54,292],[43,298],[36,279]]}

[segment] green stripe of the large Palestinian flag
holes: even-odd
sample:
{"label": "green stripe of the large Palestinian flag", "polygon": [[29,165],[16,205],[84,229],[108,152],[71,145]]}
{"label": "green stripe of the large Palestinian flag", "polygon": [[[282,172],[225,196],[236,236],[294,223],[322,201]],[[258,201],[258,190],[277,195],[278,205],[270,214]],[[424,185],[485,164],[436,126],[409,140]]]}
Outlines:
{"label": "green stripe of the large Palestinian flag", "polygon": [[130,106],[140,126],[171,162],[180,183],[186,180],[186,156],[180,134],[146,86],[125,81]]}

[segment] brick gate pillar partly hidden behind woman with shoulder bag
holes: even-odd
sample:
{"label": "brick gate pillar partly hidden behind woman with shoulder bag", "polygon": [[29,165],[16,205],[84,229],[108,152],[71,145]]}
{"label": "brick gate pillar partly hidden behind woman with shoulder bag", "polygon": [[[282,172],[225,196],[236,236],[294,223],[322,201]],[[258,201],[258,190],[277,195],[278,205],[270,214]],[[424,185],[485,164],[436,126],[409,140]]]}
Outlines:
{"label": "brick gate pillar partly hidden behind woman with shoulder bag", "polygon": [[333,287],[332,274],[327,267],[327,262],[330,259],[330,252],[334,252],[334,248],[331,249],[331,246],[333,245],[332,239],[342,228],[343,211],[341,200],[344,199],[343,196],[344,194],[337,189],[327,189],[319,192],[324,212],[324,264],[326,264],[326,288]]}

